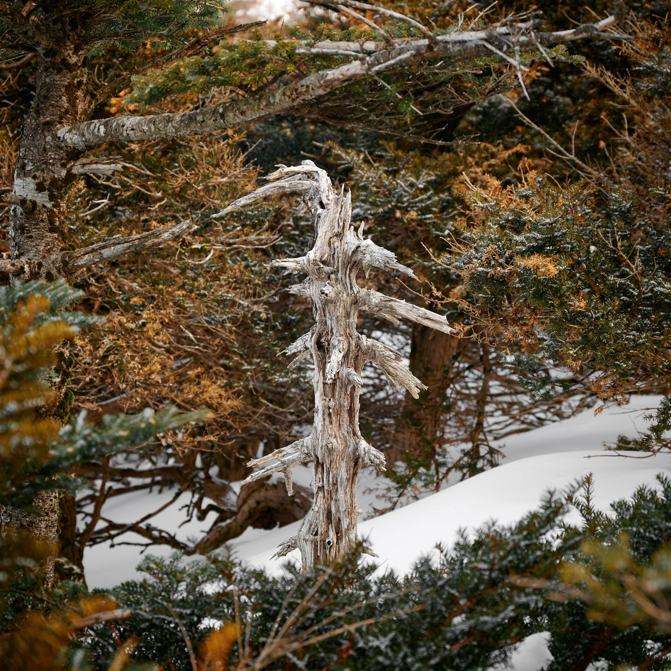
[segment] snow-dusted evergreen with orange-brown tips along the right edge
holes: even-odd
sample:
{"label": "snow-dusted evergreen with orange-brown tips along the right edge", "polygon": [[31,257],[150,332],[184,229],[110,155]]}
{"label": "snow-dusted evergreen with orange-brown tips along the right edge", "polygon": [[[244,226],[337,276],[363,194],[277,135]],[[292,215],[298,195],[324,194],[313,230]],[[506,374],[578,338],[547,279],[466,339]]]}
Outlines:
{"label": "snow-dusted evergreen with orange-brown tips along the right edge", "polygon": [[[627,101],[632,118],[625,115],[623,130],[609,125],[611,150],[601,141],[608,162],[569,152],[518,109],[578,179],[560,185],[530,172],[518,185],[490,178],[474,187],[464,234],[444,261],[462,276],[462,296],[451,299],[470,315],[471,328],[521,348],[509,366],[533,395],[549,398],[570,386],[605,402],[666,394],[649,433],[616,446],[658,450],[668,446],[671,427],[668,147],[659,140],[668,123],[662,62],[669,32],[654,15],[632,18],[631,28],[635,40],[621,49],[627,79],[586,66]],[[560,380],[543,364],[574,378]]]}

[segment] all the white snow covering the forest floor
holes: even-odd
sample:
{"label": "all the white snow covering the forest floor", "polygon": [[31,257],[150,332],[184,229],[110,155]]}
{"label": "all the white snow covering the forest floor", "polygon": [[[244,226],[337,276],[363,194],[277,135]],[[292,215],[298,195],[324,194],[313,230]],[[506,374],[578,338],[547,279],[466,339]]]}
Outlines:
{"label": "all the white snow covering the forest floor", "polygon": [[[450,546],[460,529],[476,529],[496,520],[514,523],[525,513],[538,507],[548,491],[565,491],[576,480],[591,473],[594,478],[593,505],[608,511],[610,503],[631,496],[641,485],[656,486],[656,475],[671,474],[671,455],[643,456],[640,452],[621,452],[619,456],[606,450],[619,435],[635,437],[647,427],[643,415],[656,407],[660,397],[632,397],[623,407],[611,407],[599,415],[591,409],[539,429],[511,435],[501,441],[505,458],[501,466],[456,482],[443,491],[428,495],[394,511],[366,519],[359,525],[360,536],[379,555],[376,562],[382,570],[391,568],[399,574],[411,570],[420,556],[435,556],[435,546]],[[628,457],[628,458],[627,458]],[[295,480],[309,484],[309,469],[303,467]],[[304,483],[303,480],[306,480]],[[370,488],[376,478],[366,473],[358,486],[360,507],[370,513],[373,505],[384,507]],[[105,506],[105,517],[122,521],[138,519],[145,512],[156,510],[172,497],[172,492],[138,493],[119,497]],[[183,501],[181,499],[184,499]],[[207,520],[184,523],[183,507],[187,495],[152,519],[182,539],[195,539],[209,526]],[[365,516],[365,515],[364,515]],[[578,522],[578,514],[569,513],[568,521]],[[234,556],[246,564],[265,568],[276,574],[282,562],[270,559],[276,546],[296,533],[300,522],[276,529],[246,529],[229,547]],[[128,540],[132,541],[132,534]],[[136,537],[137,541],[142,541]],[[110,587],[123,580],[139,578],[135,567],[142,559],[138,546],[109,544],[87,549],[84,558],[89,588]],[[152,554],[166,556],[170,548],[154,546]],[[293,552],[287,558],[297,561]],[[523,641],[513,654],[509,671],[538,671],[548,660],[547,636],[535,635]]]}

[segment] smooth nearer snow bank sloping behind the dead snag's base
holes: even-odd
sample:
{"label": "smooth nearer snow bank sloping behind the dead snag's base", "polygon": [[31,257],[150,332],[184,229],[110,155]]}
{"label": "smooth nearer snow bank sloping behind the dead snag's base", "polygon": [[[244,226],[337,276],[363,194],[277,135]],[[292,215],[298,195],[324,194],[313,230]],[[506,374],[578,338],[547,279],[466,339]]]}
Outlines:
{"label": "smooth nearer snow bank sloping behind the dead snag's base", "polygon": [[[621,454],[628,458],[580,450],[519,459],[364,521],[359,532],[368,539],[366,545],[380,556],[383,568],[405,574],[419,556],[435,556],[435,544],[452,544],[460,529],[475,529],[493,519],[501,524],[513,523],[537,507],[549,489],[562,491],[588,473],[595,477],[595,507],[606,510],[612,501],[631,496],[640,484],[654,486],[656,474],[671,469],[669,454],[648,458],[641,458],[639,452]],[[575,511],[568,519],[579,521]],[[272,531],[246,529],[231,542],[234,554],[252,566],[278,572],[281,565],[270,561],[270,556],[281,541],[296,533],[299,524]],[[298,551],[288,558],[299,560]]]}

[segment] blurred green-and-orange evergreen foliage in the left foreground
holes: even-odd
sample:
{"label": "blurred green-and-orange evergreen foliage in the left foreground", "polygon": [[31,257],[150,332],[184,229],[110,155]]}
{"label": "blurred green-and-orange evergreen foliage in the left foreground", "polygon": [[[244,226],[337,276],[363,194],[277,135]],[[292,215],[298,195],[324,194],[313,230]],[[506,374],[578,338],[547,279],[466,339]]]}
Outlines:
{"label": "blurred green-and-orange evergreen foliage in the left foreground", "polygon": [[[42,557],[44,583],[53,580],[56,555],[58,493],[74,493],[83,486],[74,473],[87,462],[111,456],[152,440],[166,431],[203,416],[174,409],[154,415],[108,416],[92,425],[82,412],[61,426],[53,419],[54,393],[50,376],[62,376],[71,367],[56,348],[76,331],[97,319],[64,311],[81,297],[64,280],[21,282],[0,290],[0,552],[3,556],[3,607],[15,588],[11,577],[32,580],[21,567],[31,566],[34,552]],[[56,350],[56,351],[54,351]],[[94,523],[95,526],[95,523]],[[27,534],[27,536],[26,536]],[[28,555],[25,553],[28,552]],[[76,570],[76,566],[74,567]],[[80,576],[82,577],[82,576]],[[9,581],[9,586],[7,585]],[[29,595],[30,596],[30,595]],[[19,603],[22,597],[15,595]],[[31,597],[32,598],[32,597]]]}

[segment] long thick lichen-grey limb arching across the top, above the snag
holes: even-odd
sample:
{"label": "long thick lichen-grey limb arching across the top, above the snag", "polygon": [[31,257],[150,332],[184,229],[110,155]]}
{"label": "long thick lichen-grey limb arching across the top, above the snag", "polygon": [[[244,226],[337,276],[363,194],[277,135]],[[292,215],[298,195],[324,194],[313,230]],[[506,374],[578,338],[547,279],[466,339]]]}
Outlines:
{"label": "long thick lichen-grey limb arching across the top, above the snag", "polygon": [[[533,50],[538,46],[565,44],[586,37],[600,36],[616,23],[611,16],[598,23],[578,25],[571,30],[537,32],[530,25],[495,26],[490,30],[454,32],[435,39],[395,40],[380,42],[380,49],[370,56],[358,58],[329,70],[320,70],[287,86],[269,89],[259,95],[242,98],[192,112],[148,116],[118,116],[63,126],[48,140],[67,148],[84,150],[106,142],[137,142],[160,138],[185,138],[191,135],[237,128],[244,123],[270,114],[287,113],[302,103],[347,84],[364,79],[382,70],[408,68],[421,62],[441,58],[477,58],[492,53],[492,46],[501,53]],[[529,30],[524,33],[524,30]],[[611,39],[621,38],[607,34]],[[331,47],[333,47],[333,43]],[[356,42],[347,43],[352,49]]]}

